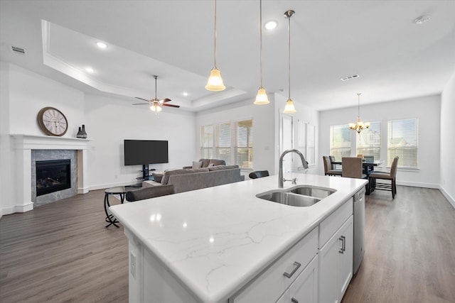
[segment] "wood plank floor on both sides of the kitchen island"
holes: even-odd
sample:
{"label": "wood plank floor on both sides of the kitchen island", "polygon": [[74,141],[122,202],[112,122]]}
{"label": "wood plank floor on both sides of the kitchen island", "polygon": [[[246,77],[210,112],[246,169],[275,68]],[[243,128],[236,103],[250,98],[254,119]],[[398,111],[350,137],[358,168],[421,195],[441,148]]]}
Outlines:
{"label": "wood plank floor on both sides of the kitchen island", "polygon": [[[455,210],[437,189],[366,200],[365,258],[343,303],[455,302]],[[128,302],[128,243],[104,192],[0,219],[0,302]],[[114,200],[114,199],[112,199]]]}

